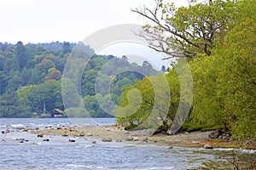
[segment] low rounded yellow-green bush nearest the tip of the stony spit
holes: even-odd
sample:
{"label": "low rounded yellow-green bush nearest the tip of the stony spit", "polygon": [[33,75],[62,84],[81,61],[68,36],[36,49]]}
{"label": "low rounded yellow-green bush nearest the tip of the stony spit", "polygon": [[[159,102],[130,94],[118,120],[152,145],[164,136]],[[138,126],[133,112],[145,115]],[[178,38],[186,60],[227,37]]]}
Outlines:
{"label": "low rounded yellow-green bush nearest the tip of the stony spit", "polygon": [[154,124],[160,126],[166,116],[171,117],[172,112],[168,110],[170,92],[164,80],[165,75],[144,77],[142,81],[125,87],[120,104],[113,109],[117,122],[150,127]]}

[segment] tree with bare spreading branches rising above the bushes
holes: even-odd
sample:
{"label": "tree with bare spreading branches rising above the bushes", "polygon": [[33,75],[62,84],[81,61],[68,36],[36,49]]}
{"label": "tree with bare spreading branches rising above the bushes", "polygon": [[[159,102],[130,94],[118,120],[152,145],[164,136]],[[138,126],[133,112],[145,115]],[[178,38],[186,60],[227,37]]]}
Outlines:
{"label": "tree with bare spreading branches rising above the bushes", "polygon": [[[150,23],[138,35],[148,40],[149,47],[172,57],[194,58],[196,54],[212,54],[218,38],[229,30],[229,21],[236,11],[236,2],[210,1],[176,8],[173,3],[156,0],[156,7],[135,8]],[[166,35],[166,36],[164,36]]]}

